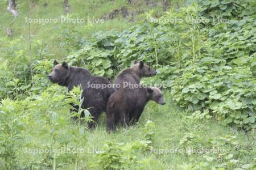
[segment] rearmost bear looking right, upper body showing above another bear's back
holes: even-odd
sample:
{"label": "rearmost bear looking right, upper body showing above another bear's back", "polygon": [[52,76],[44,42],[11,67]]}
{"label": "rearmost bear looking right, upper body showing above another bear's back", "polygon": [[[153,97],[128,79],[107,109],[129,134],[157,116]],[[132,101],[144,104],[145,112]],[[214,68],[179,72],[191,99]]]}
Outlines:
{"label": "rearmost bear looking right, upper body showing above another bear's back", "polygon": [[139,84],[140,79],[143,76],[154,76],[156,75],[156,71],[151,69],[148,65],[140,61],[134,62],[134,65],[121,71],[118,74],[117,79],[115,79],[115,88],[123,88],[128,87],[130,84]]}

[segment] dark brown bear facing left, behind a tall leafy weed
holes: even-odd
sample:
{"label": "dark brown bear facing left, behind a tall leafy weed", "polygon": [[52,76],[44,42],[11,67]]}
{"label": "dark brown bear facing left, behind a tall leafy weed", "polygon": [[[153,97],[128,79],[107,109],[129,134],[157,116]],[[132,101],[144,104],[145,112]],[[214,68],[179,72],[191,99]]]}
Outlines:
{"label": "dark brown bear facing left, behind a tall leafy weed", "polygon": [[[67,87],[68,91],[81,84],[82,97],[84,97],[82,108],[89,108],[88,111],[94,120],[94,122],[89,122],[89,128],[93,128],[100,114],[106,111],[107,101],[114,92],[112,84],[102,76],[93,76],[86,69],[68,66],[66,62],[58,63],[54,61],[53,64],[52,73],[48,75],[53,83]],[[93,84],[99,84],[100,86],[96,88]]]}

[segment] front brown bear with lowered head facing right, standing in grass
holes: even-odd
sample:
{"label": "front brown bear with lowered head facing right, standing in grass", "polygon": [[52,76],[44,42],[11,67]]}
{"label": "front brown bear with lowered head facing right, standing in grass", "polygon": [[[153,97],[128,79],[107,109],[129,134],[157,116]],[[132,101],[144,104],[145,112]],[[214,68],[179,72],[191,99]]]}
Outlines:
{"label": "front brown bear with lowered head facing right, standing in grass", "polygon": [[119,88],[108,100],[106,107],[107,130],[114,131],[117,124],[135,124],[149,100],[164,105],[160,88]]}

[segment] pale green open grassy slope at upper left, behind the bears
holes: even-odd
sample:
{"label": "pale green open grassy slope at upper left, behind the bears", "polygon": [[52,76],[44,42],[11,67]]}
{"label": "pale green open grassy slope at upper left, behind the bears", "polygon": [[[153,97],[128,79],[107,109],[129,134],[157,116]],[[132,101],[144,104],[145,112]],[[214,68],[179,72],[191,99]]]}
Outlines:
{"label": "pale green open grassy slope at upper left, behind the bears", "polygon": [[[68,56],[67,50],[60,46],[60,43],[64,41],[64,37],[61,33],[61,28],[63,27],[73,28],[76,31],[79,31],[80,37],[88,37],[100,30],[108,31],[110,29],[117,29],[121,31],[132,25],[128,20],[123,20],[121,18],[105,20],[104,23],[88,24],[86,22],[88,17],[90,19],[100,19],[111,10],[121,8],[126,5],[126,1],[69,1],[71,6],[71,14],[69,15],[69,18],[80,18],[85,20],[84,23],[76,24],[60,23],[60,16],[65,16],[62,1],[19,1],[17,3],[16,8],[19,11],[19,16],[14,20],[11,13],[6,10],[8,5],[7,1],[0,2],[1,37],[6,37],[6,29],[7,27],[11,27],[12,36],[7,37],[7,40],[16,38],[21,39],[24,48],[28,48],[29,31],[26,17],[29,18],[30,16],[32,19],[58,19],[57,23],[30,24],[31,48],[33,50],[36,43],[42,44],[43,47],[47,47],[47,58],[64,58],[65,56]],[[44,7],[46,3],[47,6]],[[36,53],[36,51],[33,53]]]}

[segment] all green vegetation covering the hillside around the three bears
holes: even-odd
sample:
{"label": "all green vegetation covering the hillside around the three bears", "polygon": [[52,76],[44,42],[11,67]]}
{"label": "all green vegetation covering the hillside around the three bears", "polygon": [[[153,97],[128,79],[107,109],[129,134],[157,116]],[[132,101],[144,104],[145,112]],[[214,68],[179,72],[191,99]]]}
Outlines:
{"label": "all green vegetation covering the hillside around the three bears", "polygon": [[[64,16],[62,1],[18,1],[19,16],[11,25],[7,1],[0,2],[0,167],[256,168],[255,1],[186,1],[180,8],[172,1],[167,12],[133,2],[140,6],[70,1],[71,18],[98,19],[123,6],[134,16],[104,23],[31,23],[30,32],[26,16]],[[7,27],[13,29],[10,37]],[[53,58],[112,80],[142,60],[158,71],[142,83],[164,84],[167,104],[148,103],[136,126],[111,134],[102,115],[89,131],[86,109],[73,113],[85,111],[77,122],[69,112],[71,101],[81,106],[80,88],[67,95],[47,78]]]}

